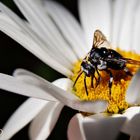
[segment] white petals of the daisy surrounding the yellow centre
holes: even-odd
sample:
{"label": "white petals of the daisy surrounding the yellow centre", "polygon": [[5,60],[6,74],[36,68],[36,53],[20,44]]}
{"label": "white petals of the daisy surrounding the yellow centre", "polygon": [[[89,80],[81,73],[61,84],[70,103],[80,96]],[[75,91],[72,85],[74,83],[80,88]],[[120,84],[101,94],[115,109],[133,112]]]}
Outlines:
{"label": "white petals of the daisy surrounding the yellow centre", "polygon": [[[22,69],[17,69],[13,76],[0,74],[1,89],[38,98],[29,98],[17,109],[3,128],[4,132],[0,138],[3,140],[11,138],[33,120],[29,130],[30,138],[46,139],[64,105],[82,112],[94,113],[89,116],[78,113],[72,118],[68,127],[69,139],[111,140],[117,137],[119,131],[131,135],[132,139],[139,138],[140,108],[130,107],[139,104],[137,84],[139,71],[126,92],[129,106],[125,104],[122,107],[125,110],[121,112],[122,114],[108,114],[110,117],[102,113],[108,105],[105,100],[97,98],[96,101],[81,101],[71,93],[72,81],[69,79],[69,77],[73,79],[75,71],[78,70],[78,61],[91,49],[93,32],[96,29],[100,29],[107,36],[114,49],[119,47],[121,50],[140,53],[139,1],[79,0],[82,27],[64,7],[53,1],[14,0],[14,2],[27,21],[20,19],[10,9],[0,4],[0,29],[68,78],[58,79],[51,84]],[[139,59],[139,55],[134,56]],[[128,79],[122,82],[124,87],[128,84],[127,81]],[[126,90],[126,87],[123,89]],[[116,99],[116,96],[113,97]],[[85,96],[82,99],[85,99]],[[109,112],[116,113],[114,107],[111,106],[111,109],[113,111]]]}

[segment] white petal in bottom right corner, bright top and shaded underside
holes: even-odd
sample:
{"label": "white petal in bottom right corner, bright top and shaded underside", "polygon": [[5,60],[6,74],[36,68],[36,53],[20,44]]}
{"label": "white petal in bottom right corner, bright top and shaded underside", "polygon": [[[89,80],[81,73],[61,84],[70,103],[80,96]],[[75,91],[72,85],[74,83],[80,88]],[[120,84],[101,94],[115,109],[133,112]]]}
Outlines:
{"label": "white petal in bottom right corner, bright top and shaded underside", "polygon": [[128,120],[122,128],[122,132],[140,137],[140,107],[131,107],[127,109],[123,116],[127,117]]}

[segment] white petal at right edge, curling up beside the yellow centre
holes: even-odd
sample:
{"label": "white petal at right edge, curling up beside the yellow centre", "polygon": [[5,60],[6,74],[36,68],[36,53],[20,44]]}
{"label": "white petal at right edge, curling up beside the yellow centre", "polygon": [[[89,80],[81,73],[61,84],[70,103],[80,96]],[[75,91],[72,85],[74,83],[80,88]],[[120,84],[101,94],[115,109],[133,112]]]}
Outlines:
{"label": "white petal at right edge, curling up beside the yellow centre", "polygon": [[126,92],[126,101],[129,104],[140,104],[140,70],[133,76]]}

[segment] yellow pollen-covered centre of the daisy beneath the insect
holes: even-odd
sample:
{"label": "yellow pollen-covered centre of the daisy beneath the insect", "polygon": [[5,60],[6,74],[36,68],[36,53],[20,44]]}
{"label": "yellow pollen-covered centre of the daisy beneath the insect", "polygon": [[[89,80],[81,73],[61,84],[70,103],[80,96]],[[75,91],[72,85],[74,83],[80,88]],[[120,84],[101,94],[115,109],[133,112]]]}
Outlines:
{"label": "yellow pollen-covered centre of the daisy beneath the insect", "polygon": [[[140,55],[134,52],[126,52],[120,49],[116,50],[123,57],[131,58],[134,60],[140,60]],[[73,75],[71,76],[72,81],[74,82],[80,72],[81,61],[79,60],[74,64],[73,67]],[[132,74],[135,74],[138,67],[132,64],[128,64]],[[131,76],[127,75],[123,70],[111,70],[113,74],[113,83],[111,87],[111,95],[109,93],[108,81],[109,75],[105,71],[99,71],[101,75],[101,80],[97,85],[96,80],[93,80],[93,87],[91,87],[91,77],[86,78],[88,95],[86,94],[85,86],[84,86],[84,73],[77,80],[73,93],[78,96],[81,100],[107,100],[109,105],[106,109],[107,113],[122,113],[129,107],[129,104],[125,100],[126,90],[129,86]],[[95,73],[95,77],[98,78],[98,74]],[[133,94],[133,93],[132,93]]]}

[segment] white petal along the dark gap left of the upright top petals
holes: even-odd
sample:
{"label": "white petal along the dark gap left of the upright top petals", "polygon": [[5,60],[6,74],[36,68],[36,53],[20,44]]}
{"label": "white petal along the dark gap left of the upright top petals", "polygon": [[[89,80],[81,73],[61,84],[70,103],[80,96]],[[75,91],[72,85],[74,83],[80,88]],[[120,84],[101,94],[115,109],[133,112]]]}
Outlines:
{"label": "white petal along the dark gap left of the upright top petals", "polygon": [[80,24],[74,17],[61,5],[53,1],[46,1],[46,10],[56,22],[61,30],[65,40],[70,43],[78,57],[82,58],[87,53],[87,44],[84,38],[84,32]]}

